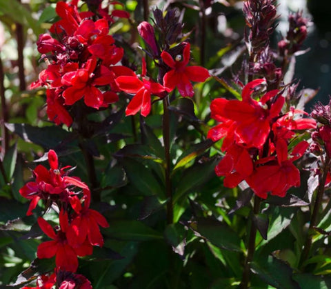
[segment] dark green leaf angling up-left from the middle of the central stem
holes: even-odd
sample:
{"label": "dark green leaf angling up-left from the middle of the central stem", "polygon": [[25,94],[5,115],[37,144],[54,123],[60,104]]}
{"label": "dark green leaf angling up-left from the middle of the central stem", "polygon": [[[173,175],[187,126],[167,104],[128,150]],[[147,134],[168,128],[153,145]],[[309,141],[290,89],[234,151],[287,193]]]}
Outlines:
{"label": "dark green leaf angling up-left from the middle of the central stem", "polygon": [[126,175],[132,186],[135,186],[143,195],[158,195],[164,197],[164,188],[161,187],[151,170],[143,166],[139,161],[134,159],[119,159],[126,170]]}

